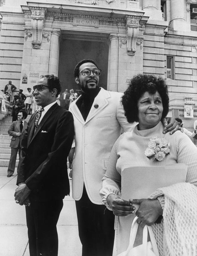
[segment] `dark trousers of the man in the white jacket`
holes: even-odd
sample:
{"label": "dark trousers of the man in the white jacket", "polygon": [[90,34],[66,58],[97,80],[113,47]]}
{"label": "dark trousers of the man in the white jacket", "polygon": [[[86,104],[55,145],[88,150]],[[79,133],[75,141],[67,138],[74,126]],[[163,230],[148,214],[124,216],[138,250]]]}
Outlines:
{"label": "dark trousers of the man in the white jacket", "polygon": [[104,205],[93,204],[85,186],[79,201],[75,201],[82,243],[82,256],[112,256],[114,219],[112,211]]}

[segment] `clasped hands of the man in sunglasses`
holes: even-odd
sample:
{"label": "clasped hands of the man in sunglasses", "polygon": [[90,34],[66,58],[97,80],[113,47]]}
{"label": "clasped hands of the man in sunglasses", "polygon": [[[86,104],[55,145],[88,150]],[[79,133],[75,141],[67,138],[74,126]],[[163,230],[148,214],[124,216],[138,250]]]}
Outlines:
{"label": "clasped hands of the man in sunglasses", "polygon": [[23,205],[28,198],[30,192],[31,190],[27,187],[27,185],[24,182],[20,182],[19,187],[16,188],[14,193],[16,203],[19,205]]}

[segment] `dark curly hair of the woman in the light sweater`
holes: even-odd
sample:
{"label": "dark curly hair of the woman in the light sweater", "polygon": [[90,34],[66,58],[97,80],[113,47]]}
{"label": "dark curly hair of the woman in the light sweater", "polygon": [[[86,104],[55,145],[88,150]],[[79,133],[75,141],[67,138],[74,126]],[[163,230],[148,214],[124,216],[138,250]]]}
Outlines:
{"label": "dark curly hair of the woman in the light sweater", "polygon": [[145,92],[151,95],[159,93],[163,105],[161,118],[166,117],[169,111],[169,96],[164,79],[154,75],[138,74],[131,79],[129,87],[122,96],[124,115],[129,123],[138,122],[138,100]]}

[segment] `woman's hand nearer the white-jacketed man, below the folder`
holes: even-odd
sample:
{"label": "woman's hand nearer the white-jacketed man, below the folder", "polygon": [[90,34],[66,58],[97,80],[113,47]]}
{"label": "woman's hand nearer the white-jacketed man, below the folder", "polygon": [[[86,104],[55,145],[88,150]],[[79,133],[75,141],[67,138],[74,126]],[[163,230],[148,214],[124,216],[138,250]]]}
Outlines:
{"label": "woman's hand nearer the white-jacketed man, below the folder", "polygon": [[115,194],[110,194],[107,197],[107,203],[112,208],[113,214],[116,216],[127,216],[133,214],[136,209],[132,203],[125,201]]}

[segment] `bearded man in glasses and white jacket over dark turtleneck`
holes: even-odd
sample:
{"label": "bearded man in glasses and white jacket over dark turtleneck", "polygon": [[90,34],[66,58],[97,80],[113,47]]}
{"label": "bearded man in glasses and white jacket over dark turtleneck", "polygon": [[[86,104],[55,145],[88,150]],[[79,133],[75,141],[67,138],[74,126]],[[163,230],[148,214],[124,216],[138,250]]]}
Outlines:
{"label": "bearded man in glasses and white jacket over dark turtleneck", "polygon": [[[82,256],[112,255],[114,215],[102,205],[99,190],[114,142],[122,129],[127,132],[135,126],[124,116],[122,93],[98,87],[100,74],[101,70],[93,60],[81,60],[76,65],[74,77],[81,95],[69,108],[75,127],[72,191],[76,200]],[[174,119],[168,129],[170,126],[170,130],[176,127]]]}

